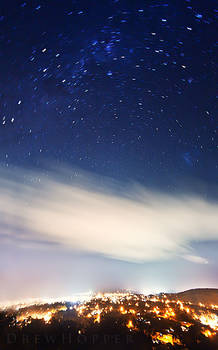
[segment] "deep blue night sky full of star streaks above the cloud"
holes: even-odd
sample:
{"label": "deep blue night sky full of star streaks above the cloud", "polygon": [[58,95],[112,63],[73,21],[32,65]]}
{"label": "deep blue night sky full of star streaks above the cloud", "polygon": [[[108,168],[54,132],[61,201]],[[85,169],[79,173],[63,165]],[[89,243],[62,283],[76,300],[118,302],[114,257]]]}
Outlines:
{"label": "deep blue night sky full of star streaks above the cloud", "polygon": [[216,203],[216,18],[213,0],[2,0],[1,172],[40,186],[52,164]]}

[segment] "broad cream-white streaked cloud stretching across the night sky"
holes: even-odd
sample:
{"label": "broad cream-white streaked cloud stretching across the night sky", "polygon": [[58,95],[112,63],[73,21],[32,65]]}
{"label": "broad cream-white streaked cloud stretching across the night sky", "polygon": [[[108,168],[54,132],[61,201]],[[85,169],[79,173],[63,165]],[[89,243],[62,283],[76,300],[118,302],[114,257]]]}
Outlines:
{"label": "broad cream-white streaked cloud stretching across the night sky", "polygon": [[135,184],[121,190],[108,179],[83,173],[78,181],[74,175],[20,170],[2,176],[0,241],[137,263],[178,257],[207,262],[191,245],[218,240],[217,203]]}

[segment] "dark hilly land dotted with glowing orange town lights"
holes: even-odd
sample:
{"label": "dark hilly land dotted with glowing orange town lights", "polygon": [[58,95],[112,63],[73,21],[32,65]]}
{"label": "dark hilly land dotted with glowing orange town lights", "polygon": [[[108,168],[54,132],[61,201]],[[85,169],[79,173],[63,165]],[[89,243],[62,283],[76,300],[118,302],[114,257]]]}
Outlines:
{"label": "dark hilly land dotted with glowing orange town lights", "polygon": [[0,312],[0,350],[218,350],[217,296],[215,289],[118,292],[80,303],[10,306]]}

